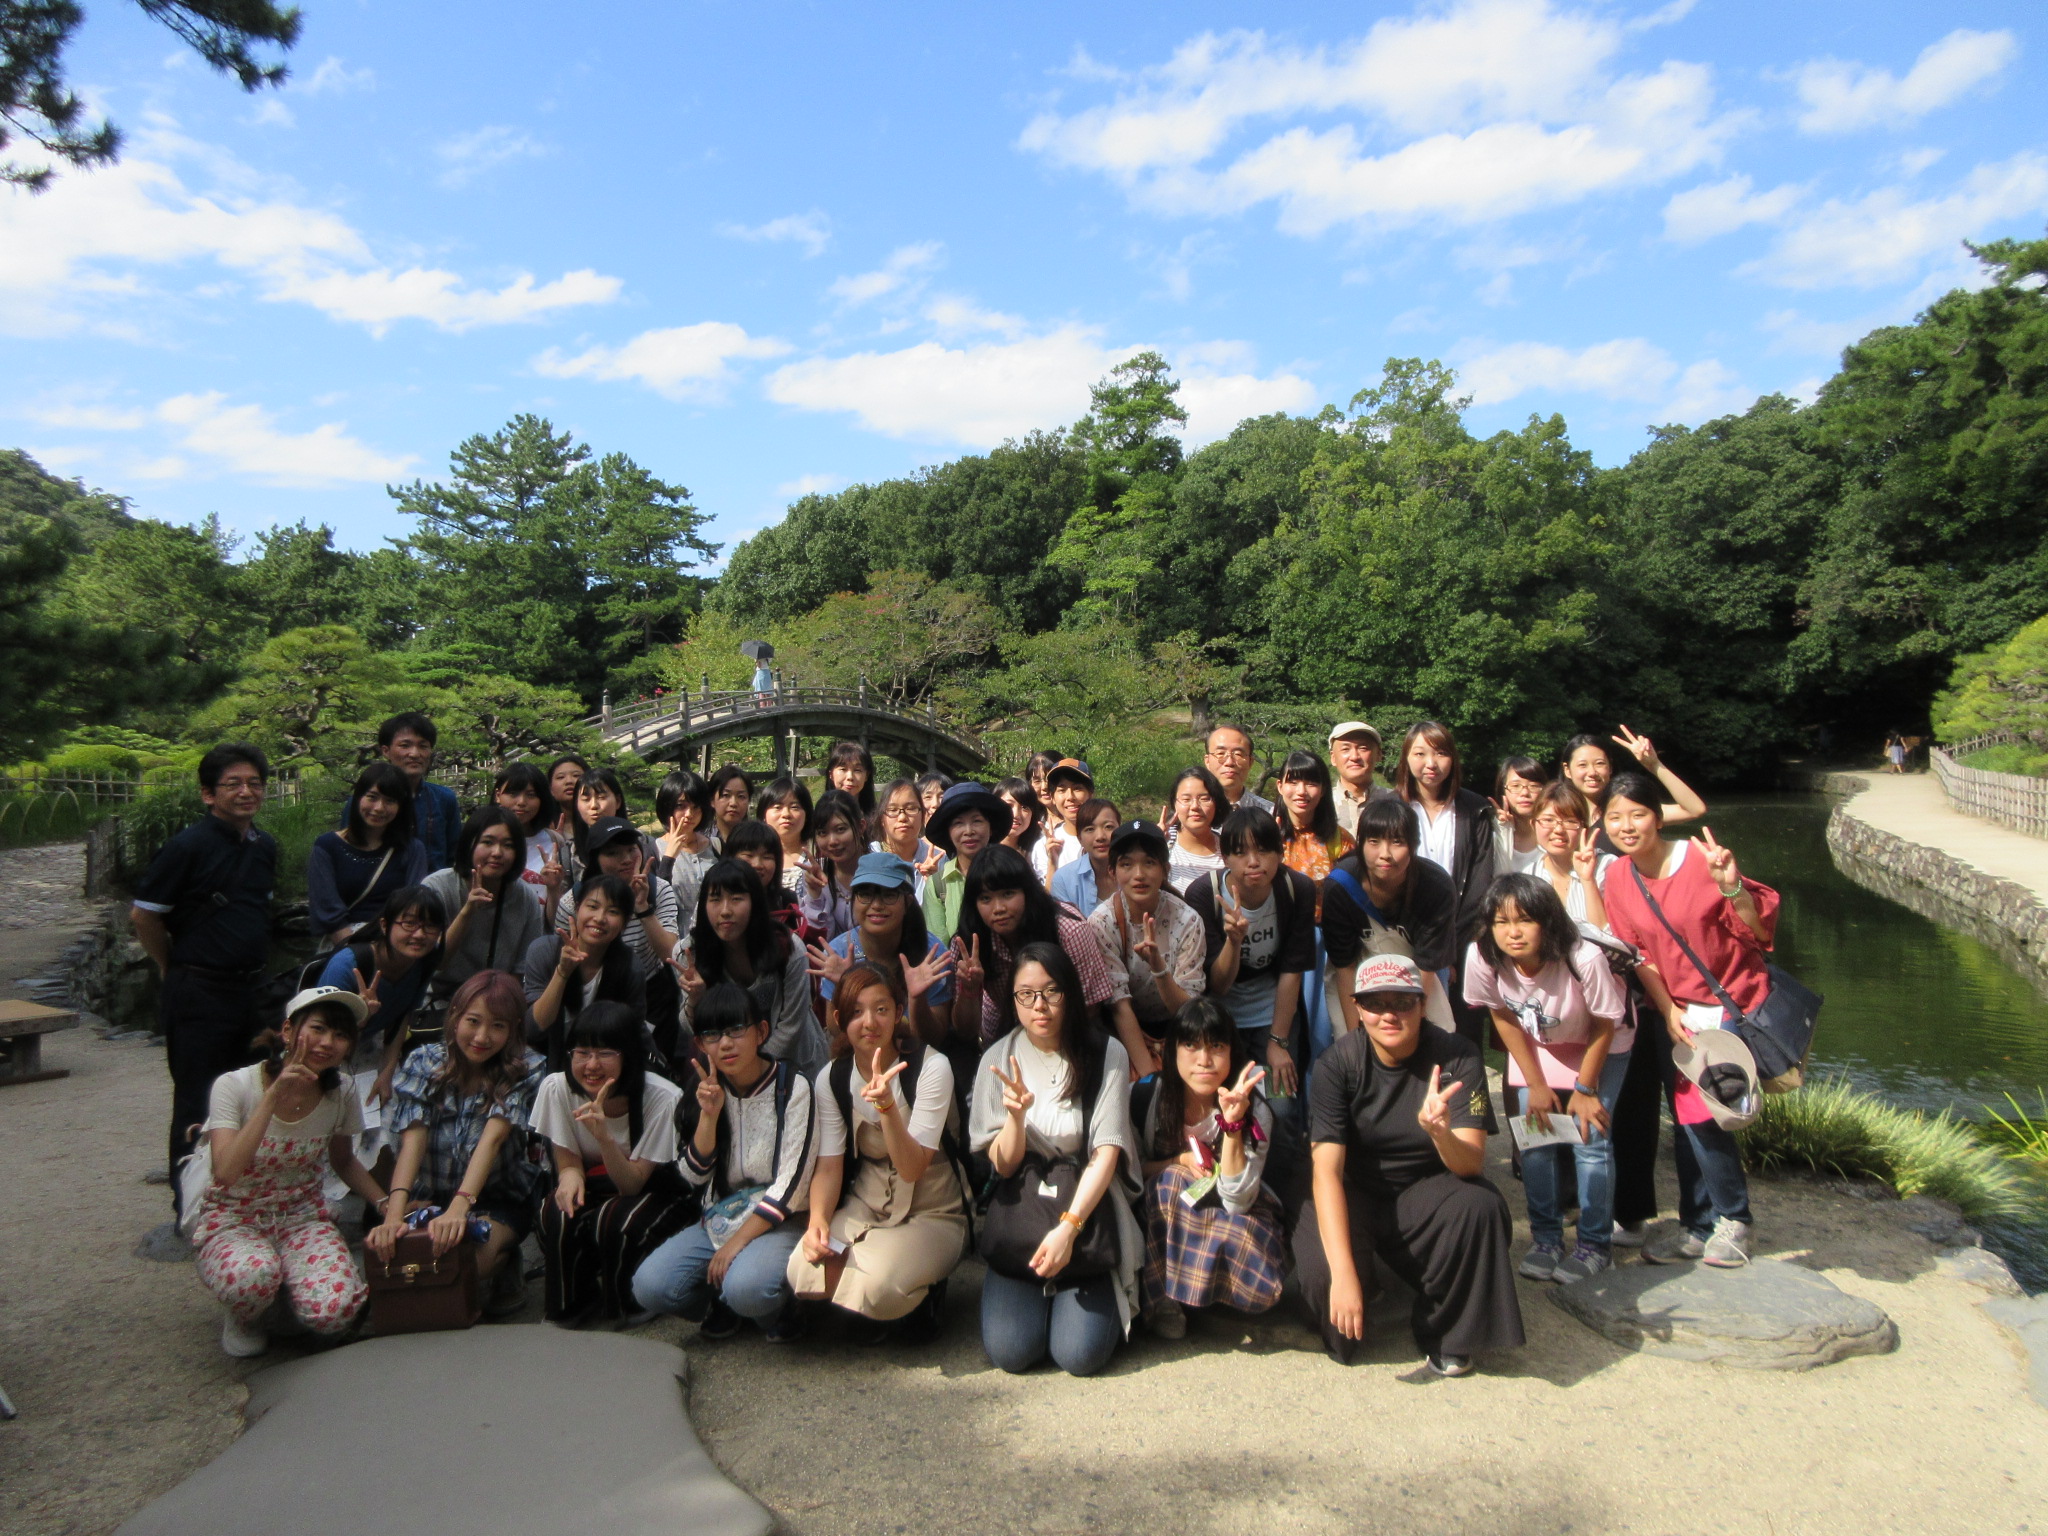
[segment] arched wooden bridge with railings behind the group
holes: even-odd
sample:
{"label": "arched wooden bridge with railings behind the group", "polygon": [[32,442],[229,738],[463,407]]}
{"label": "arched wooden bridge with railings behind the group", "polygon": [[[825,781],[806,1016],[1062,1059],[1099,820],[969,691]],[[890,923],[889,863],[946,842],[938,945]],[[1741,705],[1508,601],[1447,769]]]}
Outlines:
{"label": "arched wooden bridge with railings behind the group", "polygon": [[641,758],[686,758],[702,754],[702,770],[711,770],[711,752],[719,741],[766,735],[774,741],[776,772],[793,766],[795,743],[801,737],[848,737],[868,752],[881,752],[901,762],[942,768],[948,774],[975,774],[987,764],[987,754],[971,735],[940,725],[938,713],[891,707],[866,682],[858,688],[799,688],[776,678],[768,692],[752,688],[694,694],[664,694],[643,698],[625,709],[604,707],[584,721],[614,748]]}

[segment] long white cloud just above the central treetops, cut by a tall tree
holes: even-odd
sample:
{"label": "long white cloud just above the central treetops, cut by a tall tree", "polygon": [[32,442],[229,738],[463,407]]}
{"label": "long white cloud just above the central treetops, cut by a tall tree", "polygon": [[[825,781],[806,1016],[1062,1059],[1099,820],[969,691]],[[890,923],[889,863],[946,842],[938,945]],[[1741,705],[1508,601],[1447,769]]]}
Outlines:
{"label": "long white cloud just above the central treetops, cut by a tall tree", "polygon": [[[1087,387],[1137,346],[1102,344],[1096,326],[973,346],[920,342],[895,352],[805,358],[768,375],[768,397],[809,412],[848,412],[870,432],[987,449],[1087,412]],[[1184,348],[1200,354],[1200,348]],[[1241,358],[1239,350],[1214,356]],[[1190,446],[1227,434],[1245,416],[1307,410],[1315,385],[1292,373],[1260,377],[1192,367],[1182,375]]]}

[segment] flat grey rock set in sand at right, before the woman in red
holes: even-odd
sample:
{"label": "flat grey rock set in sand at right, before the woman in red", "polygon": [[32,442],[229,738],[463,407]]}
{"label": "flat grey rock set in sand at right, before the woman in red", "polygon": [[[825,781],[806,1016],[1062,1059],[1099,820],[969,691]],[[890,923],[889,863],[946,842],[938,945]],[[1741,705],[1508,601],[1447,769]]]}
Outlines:
{"label": "flat grey rock set in sand at right, before the woman in red", "polygon": [[1628,1350],[1751,1370],[1810,1370],[1898,1348],[1882,1309],[1780,1260],[1741,1270],[1630,1264],[1550,1300]]}

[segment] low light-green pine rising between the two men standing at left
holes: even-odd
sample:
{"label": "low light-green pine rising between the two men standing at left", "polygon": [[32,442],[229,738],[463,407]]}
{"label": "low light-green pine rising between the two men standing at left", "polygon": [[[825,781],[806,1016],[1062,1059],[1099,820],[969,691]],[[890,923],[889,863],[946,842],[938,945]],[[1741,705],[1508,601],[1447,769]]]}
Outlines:
{"label": "low light-green pine rising between the two men standing at left", "polygon": [[311,625],[264,641],[236,684],[193,719],[190,735],[240,737],[279,764],[352,772],[377,741],[379,721],[401,709],[446,715],[449,702],[346,625]]}

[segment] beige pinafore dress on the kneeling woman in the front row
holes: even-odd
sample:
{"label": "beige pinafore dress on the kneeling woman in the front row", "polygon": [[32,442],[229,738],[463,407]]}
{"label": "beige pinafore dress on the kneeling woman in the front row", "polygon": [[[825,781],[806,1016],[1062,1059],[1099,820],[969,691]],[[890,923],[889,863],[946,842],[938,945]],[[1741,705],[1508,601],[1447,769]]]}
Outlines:
{"label": "beige pinafore dress on the kneeling woman in the front row", "polygon": [[[950,1096],[948,1079],[948,1104]],[[934,1153],[924,1178],[909,1184],[889,1161],[881,1126],[858,1108],[854,1151],[831,1217],[831,1235],[848,1245],[840,1286],[825,1292],[825,1266],[811,1264],[803,1247],[788,1255],[788,1282],[803,1300],[831,1300],[887,1323],[911,1313],[958,1266],[967,1251],[967,1208],[946,1153]]]}

